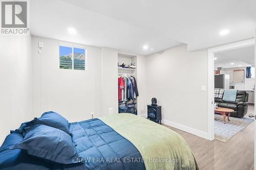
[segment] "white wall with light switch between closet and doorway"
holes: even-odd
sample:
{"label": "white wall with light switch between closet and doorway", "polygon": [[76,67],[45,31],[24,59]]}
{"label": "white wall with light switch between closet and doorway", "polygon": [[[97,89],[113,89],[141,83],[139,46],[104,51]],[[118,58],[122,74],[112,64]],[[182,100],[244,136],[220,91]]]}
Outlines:
{"label": "white wall with light switch between closet and doorway", "polygon": [[185,44],[146,57],[146,98],[157,98],[165,124],[207,133],[207,50],[188,52]]}

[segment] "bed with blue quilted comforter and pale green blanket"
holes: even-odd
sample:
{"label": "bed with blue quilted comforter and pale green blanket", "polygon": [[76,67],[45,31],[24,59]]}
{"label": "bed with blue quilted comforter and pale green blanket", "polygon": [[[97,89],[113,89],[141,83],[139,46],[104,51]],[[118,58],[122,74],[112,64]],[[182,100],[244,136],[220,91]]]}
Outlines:
{"label": "bed with blue quilted comforter and pale green blanket", "polygon": [[[42,138],[35,142],[34,147],[18,148],[19,143],[28,140],[26,136],[30,132],[24,134],[24,129],[32,131],[31,127],[35,125],[31,125],[35,122],[22,124],[6,137],[0,148],[0,169],[199,169],[193,152],[179,134],[134,114],[115,114],[68,123],[68,132],[78,155],[76,162],[71,163],[59,161],[68,154],[68,151],[63,153],[63,150],[69,149],[66,146],[57,151],[63,154],[57,154],[55,160],[49,160],[48,155],[42,154],[40,149],[39,156],[33,155],[31,148],[40,148],[40,144],[46,147],[54,145],[44,142]],[[39,120],[37,124],[48,127]],[[56,134],[59,131],[66,133],[60,127],[57,129]],[[54,135],[51,133],[46,139],[52,137],[57,142],[56,146],[60,147],[61,141]],[[30,139],[29,144],[34,140]],[[52,150],[55,152],[57,147]]]}

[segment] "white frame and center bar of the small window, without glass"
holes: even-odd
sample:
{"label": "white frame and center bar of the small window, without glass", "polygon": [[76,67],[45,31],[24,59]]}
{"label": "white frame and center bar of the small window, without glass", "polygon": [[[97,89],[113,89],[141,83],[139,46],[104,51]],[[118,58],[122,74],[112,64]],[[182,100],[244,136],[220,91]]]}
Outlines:
{"label": "white frame and center bar of the small window, without glass", "polygon": [[[59,46],[65,46],[65,47],[70,47],[72,49],[72,69],[63,69],[59,67],[60,60],[59,60]],[[80,48],[84,50],[84,70],[83,69],[74,69],[74,48]],[[87,48],[85,46],[81,45],[66,45],[64,44],[58,44],[58,68],[61,70],[78,70],[78,71],[87,71],[87,63],[88,63],[88,58],[87,58]]]}

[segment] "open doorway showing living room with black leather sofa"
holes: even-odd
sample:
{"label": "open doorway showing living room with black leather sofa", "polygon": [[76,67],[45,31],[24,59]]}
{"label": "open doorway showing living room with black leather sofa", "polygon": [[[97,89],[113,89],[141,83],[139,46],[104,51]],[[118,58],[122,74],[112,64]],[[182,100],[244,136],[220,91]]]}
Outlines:
{"label": "open doorway showing living room with black leather sofa", "polygon": [[247,126],[253,126],[254,45],[215,53],[214,65],[215,139],[227,142]]}

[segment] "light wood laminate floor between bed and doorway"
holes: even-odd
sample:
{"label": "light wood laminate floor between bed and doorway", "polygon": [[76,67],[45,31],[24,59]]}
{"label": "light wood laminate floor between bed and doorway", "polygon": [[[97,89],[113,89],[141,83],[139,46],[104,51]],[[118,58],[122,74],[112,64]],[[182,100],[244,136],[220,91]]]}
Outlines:
{"label": "light wood laminate floor between bed and doorway", "polygon": [[209,141],[173,127],[164,126],[183,136],[193,151],[200,169],[250,170],[254,167],[254,123],[227,142]]}

